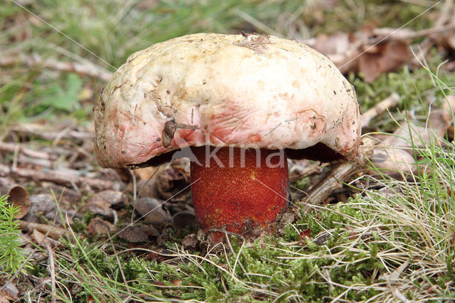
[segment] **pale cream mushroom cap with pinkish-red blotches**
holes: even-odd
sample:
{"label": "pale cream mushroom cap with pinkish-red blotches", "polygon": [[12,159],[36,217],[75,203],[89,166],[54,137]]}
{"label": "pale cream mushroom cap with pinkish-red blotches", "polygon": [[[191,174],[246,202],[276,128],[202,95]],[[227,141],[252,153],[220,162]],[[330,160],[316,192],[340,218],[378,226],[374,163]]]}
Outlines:
{"label": "pale cream mushroom cap with pinkish-red blotches", "polygon": [[203,145],[321,142],[352,159],[360,142],[355,92],[336,66],[303,43],[255,34],[198,33],[139,50],[114,73],[94,117],[105,167]]}

